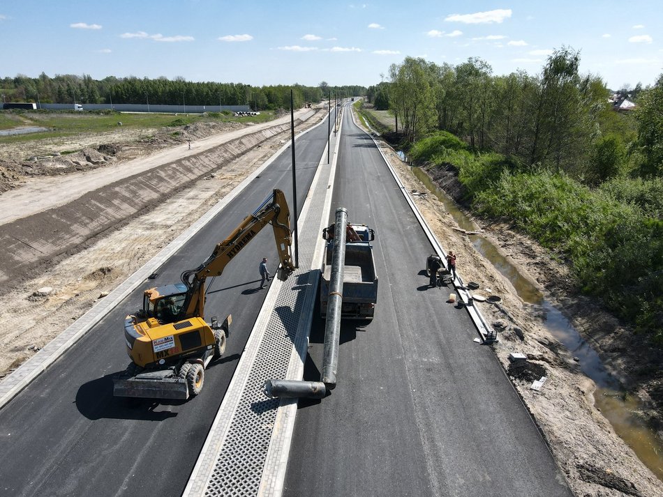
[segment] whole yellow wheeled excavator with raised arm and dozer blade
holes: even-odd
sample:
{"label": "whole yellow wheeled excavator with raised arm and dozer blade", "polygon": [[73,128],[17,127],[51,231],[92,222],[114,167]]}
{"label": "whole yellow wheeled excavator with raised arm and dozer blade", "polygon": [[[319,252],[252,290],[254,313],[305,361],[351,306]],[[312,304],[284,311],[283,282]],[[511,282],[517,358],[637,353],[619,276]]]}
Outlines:
{"label": "whole yellow wheeled excavator with raised arm and dozer blade", "polygon": [[274,229],[281,261],[276,276],[282,281],[288,278],[295,270],[290,211],[283,192],[274,190],[200,266],[181,273],[181,283],[144,291],[142,309],[124,320],[131,363],[114,378],[114,396],[186,400],[200,393],[204,370],[225,352],[232,323],[232,314],[221,325],[216,317],[209,324],[204,320],[205,280],[221,276],[267,224]]}

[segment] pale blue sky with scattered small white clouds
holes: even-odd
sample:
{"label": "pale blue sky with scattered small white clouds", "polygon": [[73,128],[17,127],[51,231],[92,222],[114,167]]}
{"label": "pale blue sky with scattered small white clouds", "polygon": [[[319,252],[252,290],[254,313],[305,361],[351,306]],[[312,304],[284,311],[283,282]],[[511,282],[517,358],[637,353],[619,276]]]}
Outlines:
{"label": "pale blue sky with scattered small white clouds", "polygon": [[612,89],[663,72],[661,0],[0,0],[0,77],[376,84],[405,56],[539,73],[552,49]]}

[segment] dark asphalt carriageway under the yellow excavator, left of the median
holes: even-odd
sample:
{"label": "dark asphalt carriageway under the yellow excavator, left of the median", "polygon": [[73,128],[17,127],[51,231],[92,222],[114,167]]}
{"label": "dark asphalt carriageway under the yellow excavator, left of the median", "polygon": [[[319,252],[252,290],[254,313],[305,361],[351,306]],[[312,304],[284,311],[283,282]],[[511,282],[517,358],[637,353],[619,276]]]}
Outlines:
{"label": "dark asphalt carriageway under the yellow excavator, left of the median", "polygon": [[[326,123],[297,139],[299,209],[326,143]],[[211,363],[198,397],[152,402],[112,396],[112,376],[129,362],[124,316],[142,305],[144,289],[179,282],[182,270],[204,261],[274,188],[291,201],[290,148],[164,263],[155,280],[144,282],[0,410],[0,496],[181,496],[265,298],[262,257],[276,270],[271,227],[207,282],[208,319],[232,313],[233,323],[225,357]],[[290,212],[292,218],[292,204]]]}

